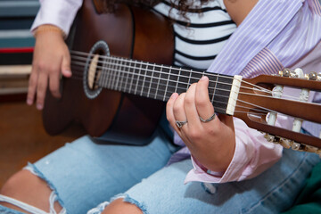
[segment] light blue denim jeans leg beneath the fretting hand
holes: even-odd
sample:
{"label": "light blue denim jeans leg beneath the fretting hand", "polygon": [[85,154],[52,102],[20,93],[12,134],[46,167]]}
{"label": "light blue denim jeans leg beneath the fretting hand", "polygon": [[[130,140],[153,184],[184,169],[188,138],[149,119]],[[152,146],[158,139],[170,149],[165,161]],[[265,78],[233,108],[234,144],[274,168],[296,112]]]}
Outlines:
{"label": "light blue denim jeans leg beneath the fretting hand", "polygon": [[283,158],[259,177],[184,185],[186,173],[193,167],[185,160],[157,171],[112,200],[124,198],[144,214],[279,213],[292,206],[318,161],[316,154],[284,150]]}

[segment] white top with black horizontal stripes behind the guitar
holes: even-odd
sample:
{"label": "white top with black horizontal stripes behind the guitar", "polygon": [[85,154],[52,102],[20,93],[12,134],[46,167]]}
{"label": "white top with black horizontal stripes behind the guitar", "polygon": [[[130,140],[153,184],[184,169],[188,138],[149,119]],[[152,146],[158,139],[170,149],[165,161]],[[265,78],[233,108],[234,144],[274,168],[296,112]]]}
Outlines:
{"label": "white top with black horizontal stripes behind the guitar", "polygon": [[197,7],[199,3],[196,4],[186,13],[189,20],[185,20],[176,7],[170,10],[170,4],[166,1],[157,4],[154,10],[175,21],[174,64],[206,70],[233,34],[236,25],[226,12],[223,0],[210,1],[200,8]]}

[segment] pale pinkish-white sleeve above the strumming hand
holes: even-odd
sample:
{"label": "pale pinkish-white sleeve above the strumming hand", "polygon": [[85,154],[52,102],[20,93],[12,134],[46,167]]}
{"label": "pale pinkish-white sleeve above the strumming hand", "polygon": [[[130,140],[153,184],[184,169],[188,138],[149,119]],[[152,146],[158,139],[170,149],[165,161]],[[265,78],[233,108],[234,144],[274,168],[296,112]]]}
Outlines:
{"label": "pale pinkish-white sleeve above the strumming hand", "polygon": [[43,24],[52,24],[68,35],[82,0],[40,0],[40,10],[31,26],[31,31]]}

